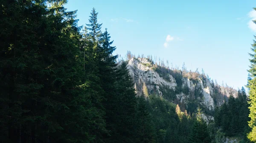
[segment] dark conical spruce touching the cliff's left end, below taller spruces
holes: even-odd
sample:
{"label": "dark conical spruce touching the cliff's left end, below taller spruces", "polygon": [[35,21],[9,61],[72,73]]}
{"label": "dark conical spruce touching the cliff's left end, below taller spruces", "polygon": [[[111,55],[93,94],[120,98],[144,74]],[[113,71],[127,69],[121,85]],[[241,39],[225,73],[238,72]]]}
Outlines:
{"label": "dark conical spruce touching the cliff's left end, below taller spruces", "polygon": [[115,82],[114,95],[108,98],[107,127],[110,136],[105,137],[105,143],[133,143],[135,137],[136,96],[127,63],[122,62],[117,70],[118,79]]}

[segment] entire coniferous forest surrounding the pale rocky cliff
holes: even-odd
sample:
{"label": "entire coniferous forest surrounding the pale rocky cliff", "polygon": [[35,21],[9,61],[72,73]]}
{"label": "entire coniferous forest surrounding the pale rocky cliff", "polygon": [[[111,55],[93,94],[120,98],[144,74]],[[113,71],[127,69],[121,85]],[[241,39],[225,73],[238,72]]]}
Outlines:
{"label": "entire coniferous forest surrounding the pale rocky cliff", "polygon": [[207,123],[201,107],[182,112],[145,83],[137,95],[96,9],[81,27],[66,3],[0,1],[1,143],[256,143],[255,41],[249,96],[230,90]]}

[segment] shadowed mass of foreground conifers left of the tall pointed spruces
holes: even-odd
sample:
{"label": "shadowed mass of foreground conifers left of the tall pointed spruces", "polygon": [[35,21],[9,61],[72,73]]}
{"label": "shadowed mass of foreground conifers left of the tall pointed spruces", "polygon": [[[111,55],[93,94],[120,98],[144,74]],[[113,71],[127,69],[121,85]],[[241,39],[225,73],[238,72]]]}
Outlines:
{"label": "shadowed mass of foreground conifers left of the tall pointed spruces", "polygon": [[66,12],[65,0],[46,2],[1,3],[1,139],[92,142],[105,130],[95,68],[81,66],[76,11]]}

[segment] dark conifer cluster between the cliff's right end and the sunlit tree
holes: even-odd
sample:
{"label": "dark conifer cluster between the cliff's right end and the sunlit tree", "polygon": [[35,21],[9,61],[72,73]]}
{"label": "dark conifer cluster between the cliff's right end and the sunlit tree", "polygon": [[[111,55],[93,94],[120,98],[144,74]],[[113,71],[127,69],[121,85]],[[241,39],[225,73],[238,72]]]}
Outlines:
{"label": "dark conifer cluster between the cliff's right end and the sunlit tree", "polygon": [[215,126],[221,127],[228,136],[244,136],[248,129],[249,105],[244,87],[238,91],[238,98],[234,98],[230,90],[228,102],[215,110]]}

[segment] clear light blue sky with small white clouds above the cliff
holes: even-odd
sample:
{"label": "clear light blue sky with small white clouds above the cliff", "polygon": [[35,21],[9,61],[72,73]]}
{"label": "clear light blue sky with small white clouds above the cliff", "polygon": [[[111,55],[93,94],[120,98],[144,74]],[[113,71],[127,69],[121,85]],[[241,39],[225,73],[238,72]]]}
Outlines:
{"label": "clear light blue sky with small white clouds above the cliff", "polygon": [[79,25],[96,8],[115,53],[153,55],[188,70],[204,69],[219,84],[247,84],[248,53],[256,35],[255,0],[69,0]]}

